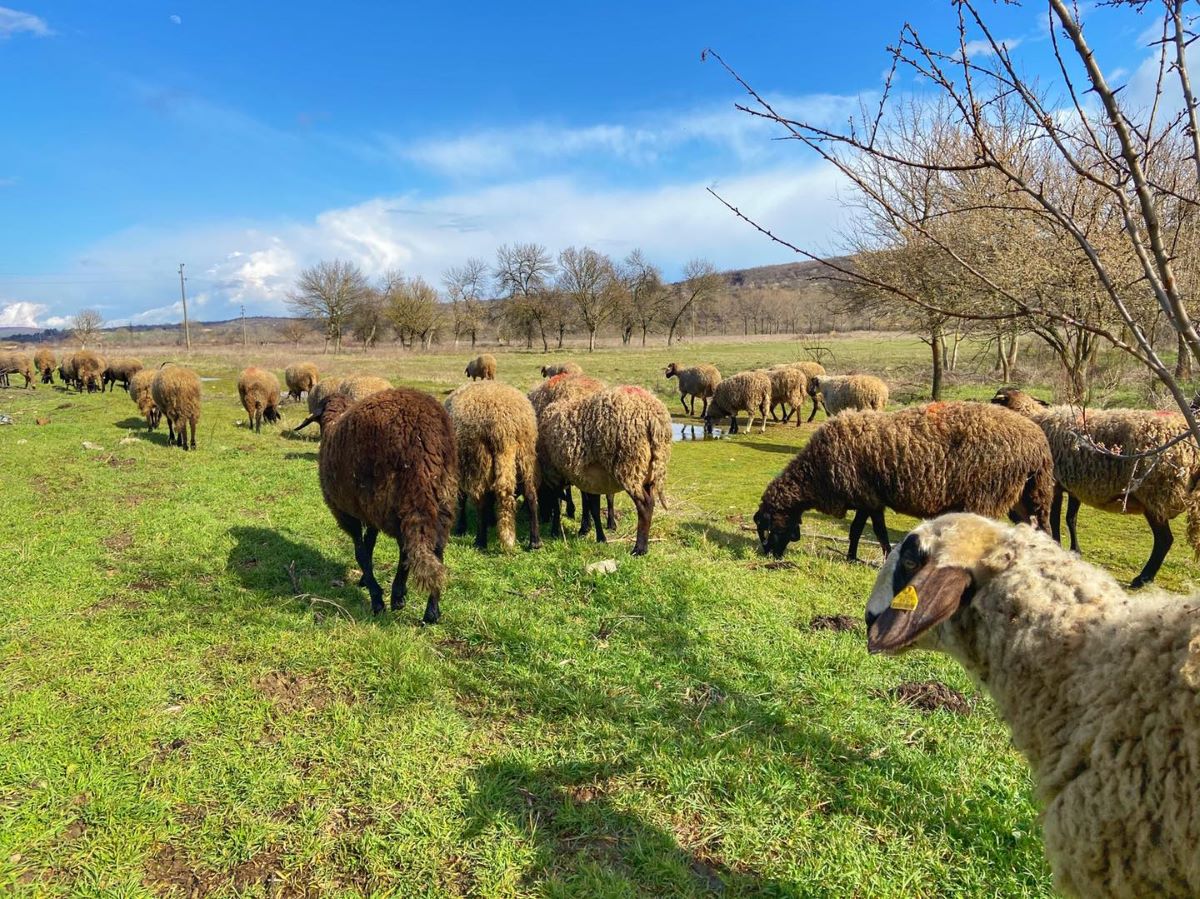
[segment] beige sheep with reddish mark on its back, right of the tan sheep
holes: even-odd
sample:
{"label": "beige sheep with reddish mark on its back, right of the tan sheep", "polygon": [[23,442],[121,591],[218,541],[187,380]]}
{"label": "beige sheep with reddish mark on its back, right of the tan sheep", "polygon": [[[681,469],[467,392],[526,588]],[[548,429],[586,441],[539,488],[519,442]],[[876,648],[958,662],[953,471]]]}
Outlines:
{"label": "beige sheep with reddish mark on its back, right of the tan sheep", "polygon": [[[637,509],[632,553],[646,555],[654,502],[665,499],[671,460],[671,414],[661,400],[643,388],[626,385],[552,402],[539,421],[538,455],[546,460],[542,480],[551,490],[565,484],[580,489],[599,543],[605,541],[600,495],[629,493]],[[557,502],[553,515],[557,532]]]}

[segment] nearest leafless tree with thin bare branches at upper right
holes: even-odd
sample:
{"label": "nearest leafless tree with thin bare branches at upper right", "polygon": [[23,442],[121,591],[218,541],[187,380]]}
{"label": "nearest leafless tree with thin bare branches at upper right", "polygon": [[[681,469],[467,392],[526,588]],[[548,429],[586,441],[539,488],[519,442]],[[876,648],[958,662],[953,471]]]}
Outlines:
{"label": "nearest leafless tree with thin bare branches at upper right", "polygon": [[[1052,83],[1034,82],[1022,74],[1012,49],[992,30],[990,4],[958,0],[952,8],[958,16],[958,46],[938,49],[905,25],[889,48],[892,70],[878,108],[865,110],[847,128],[830,130],[779,114],[724,60],[715,54],[714,58],[750,94],[752,102],[740,106],[744,112],[780,125],[786,137],[816,151],[859,190],[871,190],[854,166],[863,156],[882,160],[894,170],[911,172],[914,176],[924,173],[941,182],[978,173],[995,179],[1001,188],[990,203],[996,215],[1032,216],[1051,234],[1063,235],[1073,254],[1082,259],[1091,292],[1112,313],[1115,325],[1106,319],[1076,318],[1069,310],[1046,304],[1044,292],[1014,289],[1004,277],[996,277],[940,239],[937,229],[928,222],[911,220],[900,209],[893,211],[907,228],[958,264],[964,278],[995,292],[1010,306],[974,313],[973,318],[1022,318],[1034,326],[1050,324],[1088,331],[1148,368],[1170,391],[1187,419],[1192,438],[1200,442],[1200,425],[1190,408],[1190,397],[1172,366],[1156,349],[1153,329],[1142,314],[1142,298],[1148,296],[1157,306],[1153,319],[1168,323],[1180,348],[1193,361],[1200,360],[1200,334],[1183,287],[1187,278],[1181,278],[1181,259],[1172,252],[1180,230],[1190,222],[1200,202],[1200,127],[1187,54],[1196,37],[1190,11],[1183,0],[1111,0],[1102,5],[1102,11],[1088,13],[1090,17],[1133,13],[1146,17],[1157,10],[1158,40],[1152,44],[1157,82],[1148,98],[1139,98],[1121,94],[1122,85],[1110,84],[1105,71],[1111,67],[1093,52],[1085,35],[1081,8],[1070,0],[1046,0],[1050,35],[1046,46],[1057,73]],[[1136,26],[1140,30],[1144,19]],[[983,53],[978,50],[980,47]],[[893,121],[901,72],[932,88],[952,110],[952,125],[970,151],[965,157],[930,162],[881,144],[881,134],[888,132]],[[1172,108],[1172,96],[1180,97],[1177,108]],[[997,128],[1002,115],[1010,116],[1012,127]],[[1021,140],[997,139],[997,134],[1004,133],[1020,134]],[[1037,164],[1038,152],[1045,154],[1046,164]],[[1046,191],[1048,170],[1069,172],[1087,190]],[[1085,208],[1081,215],[1074,199],[1088,192],[1098,198],[1098,206]],[[736,206],[726,205],[740,215]],[[943,218],[974,211],[978,210],[953,208]],[[1116,242],[1111,240],[1114,234],[1118,238]],[[1135,278],[1124,275],[1126,259],[1133,260]],[[841,269],[844,275],[856,277],[850,266]],[[906,296],[916,305],[925,302],[912,296],[904,283],[881,282],[872,287]],[[948,311],[936,304],[925,305]]]}

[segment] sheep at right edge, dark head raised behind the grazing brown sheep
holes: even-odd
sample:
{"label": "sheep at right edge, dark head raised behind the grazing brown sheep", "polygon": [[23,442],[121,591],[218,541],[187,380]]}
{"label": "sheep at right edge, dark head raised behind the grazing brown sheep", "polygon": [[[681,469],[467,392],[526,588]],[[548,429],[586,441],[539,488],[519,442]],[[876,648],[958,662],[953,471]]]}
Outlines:
{"label": "sheep at right edge, dark head raised behind the grazing brown sheep", "polygon": [[[1105,409],[1086,415],[1069,406],[1048,406],[1016,388],[996,391],[992,402],[1027,416],[1045,432],[1054,456],[1055,503],[1050,528],[1061,539],[1060,513],[1067,493],[1067,529],[1070,549],[1079,552],[1075,521],[1079,507],[1123,514],[1142,514],[1154,545],[1132,587],[1154,580],[1175,543],[1171,520],[1187,513],[1188,543],[1200,555],[1200,451],[1190,439],[1176,443],[1153,459],[1115,459],[1097,444],[1124,455],[1136,455],[1166,444],[1187,431],[1182,415],[1146,409]],[[1086,437],[1085,437],[1086,434]]]}

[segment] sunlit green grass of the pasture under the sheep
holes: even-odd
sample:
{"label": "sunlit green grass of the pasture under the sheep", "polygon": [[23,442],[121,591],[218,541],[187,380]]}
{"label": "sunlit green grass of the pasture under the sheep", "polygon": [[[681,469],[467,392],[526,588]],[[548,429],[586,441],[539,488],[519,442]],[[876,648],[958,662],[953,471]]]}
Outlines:
{"label": "sunlit green grass of the pasture under the sheep", "polygon": [[[835,349],[846,367],[923,362],[916,342]],[[324,367],[444,391],[467,355]],[[672,355],[583,361],[678,412]],[[704,355],[732,370],[800,353]],[[541,359],[505,354],[500,376],[527,386]],[[868,657],[860,623],[810,628],[860,621],[874,569],[841,559],[847,522],[810,516],[784,567],[755,553],[761,490],[811,426],[677,444],[644,559],[628,556],[628,499],[608,546],[455,539],[443,622],[420,628],[424,598],[366,611],[317,443],[240,424],[238,355],[193,362],[215,378],[194,454],[145,433],[122,392],[0,394],[16,421],[0,428],[0,892],[1049,893],[1026,767],[988,699],[940,657]],[[1080,525],[1121,577],[1148,553],[1140,519],[1085,509]],[[377,557],[384,580],[395,546]],[[614,574],[586,574],[608,557]],[[1162,581],[1192,577],[1181,545]],[[889,693],[920,681],[970,712]]]}

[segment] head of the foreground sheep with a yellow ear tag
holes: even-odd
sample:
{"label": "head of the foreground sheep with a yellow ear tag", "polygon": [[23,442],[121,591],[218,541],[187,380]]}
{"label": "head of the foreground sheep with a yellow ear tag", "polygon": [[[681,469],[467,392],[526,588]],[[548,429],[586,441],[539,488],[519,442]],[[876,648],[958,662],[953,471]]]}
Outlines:
{"label": "head of the foreground sheep with a yellow ear tag", "polygon": [[900,653],[944,647],[941,630],[967,607],[990,577],[986,557],[1004,527],[954,513],[924,521],[892,550],[866,604],[866,648]]}

